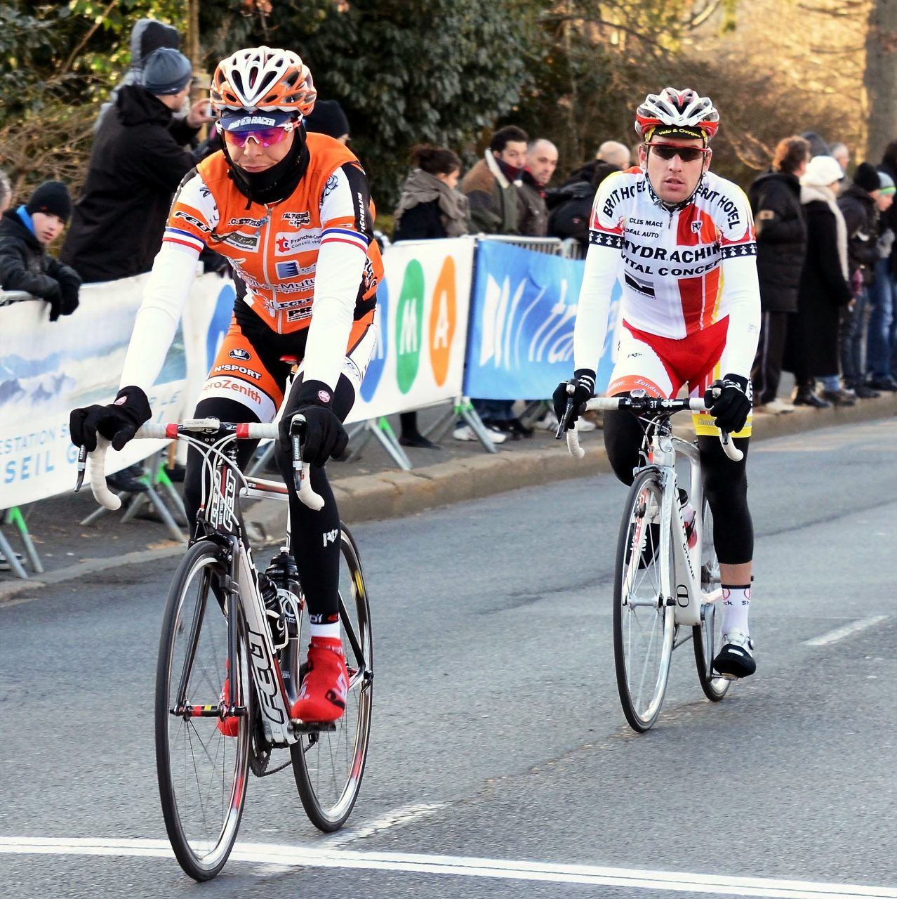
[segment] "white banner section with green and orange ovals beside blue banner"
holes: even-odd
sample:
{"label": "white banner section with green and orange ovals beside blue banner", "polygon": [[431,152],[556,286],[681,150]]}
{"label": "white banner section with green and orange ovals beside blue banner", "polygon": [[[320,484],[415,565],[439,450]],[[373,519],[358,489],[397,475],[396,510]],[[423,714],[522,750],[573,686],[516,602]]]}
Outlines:
{"label": "white banner section with green and orange ovals beside blue banner", "polygon": [[474,237],[407,241],[383,255],[377,349],[349,422],[461,395]]}

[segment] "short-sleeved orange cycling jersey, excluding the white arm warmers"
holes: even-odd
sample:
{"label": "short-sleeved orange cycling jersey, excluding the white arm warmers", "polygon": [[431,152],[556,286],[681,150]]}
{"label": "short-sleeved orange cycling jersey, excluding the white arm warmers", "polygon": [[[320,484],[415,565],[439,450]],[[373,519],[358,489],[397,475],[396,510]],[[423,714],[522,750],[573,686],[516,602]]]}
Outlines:
{"label": "short-sleeved orange cycling jersey, excluding the white arm warmers", "polygon": [[244,302],[279,334],[309,325],[323,246],[343,244],[367,254],[360,304],[372,305],[383,277],[367,178],[358,160],[332,138],[308,134],[306,140],[305,174],[286,200],[271,206],[246,200],[222,153],[204,159],[182,183],[163,240],[197,254],[208,246],[226,256],[246,286]]}

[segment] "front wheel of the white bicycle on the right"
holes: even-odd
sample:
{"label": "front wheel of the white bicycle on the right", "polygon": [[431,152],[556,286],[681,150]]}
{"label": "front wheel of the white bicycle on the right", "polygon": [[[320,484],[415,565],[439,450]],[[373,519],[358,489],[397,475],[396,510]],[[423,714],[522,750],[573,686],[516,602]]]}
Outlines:
{"label": "front wheel of the white bicycle on the right", "polygon": [[[675,609],[662,596],[672,547],[662,546],[662,486],[656,471],[635,476],[617,542],[614,576],[614,663],[626,721],[638,732],[661,712],[670,674]],[[672,577],[668,583],[672,583]]]}

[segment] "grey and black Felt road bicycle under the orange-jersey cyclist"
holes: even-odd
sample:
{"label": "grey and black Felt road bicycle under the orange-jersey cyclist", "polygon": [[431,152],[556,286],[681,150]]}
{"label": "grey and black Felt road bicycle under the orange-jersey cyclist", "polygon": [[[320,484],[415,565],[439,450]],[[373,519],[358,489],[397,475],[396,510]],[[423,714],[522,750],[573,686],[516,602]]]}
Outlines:
{"label": "grey and black Felt road bicycle under the orange-jersey cyclist", "polygon": [[[304,419],[294,418],[293,469],[299,499],[313,509],[301,461]],[[244,498],[288,500],[286,485],[245,476],[237,440],[276,439],[277,424],[199,419],[147,424],[137,436],[185,440],[203,456],[203,493],[196,537],[174,574],[164,611],[155,681],[155,758],[165,829],[183,870],[209,880],[234,847],[244,810],[248,772],[263,777],[292,765],[309,820],[324,832],[342,827],[358,797],[368,755],[373,645],[368,591],[358,547],[341,527],[339,611],[349,669],[345,712],[335,723],[290,719],[305,673],[300,646],[308,642],[306,601],[285,545],[260,576],[240,509]],[[113,511],[98,436],[90,454],[90,483]],[[86,453],[78,463],[84,479]],[[229,735],[233,734],[233,735]],[[275,750],[289,759],[271,764]]]}

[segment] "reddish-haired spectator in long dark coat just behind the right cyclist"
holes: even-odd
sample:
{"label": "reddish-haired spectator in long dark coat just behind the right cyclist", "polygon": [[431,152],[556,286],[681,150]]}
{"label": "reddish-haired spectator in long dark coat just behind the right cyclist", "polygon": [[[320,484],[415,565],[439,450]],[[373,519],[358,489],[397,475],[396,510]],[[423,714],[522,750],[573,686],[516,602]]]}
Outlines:
{"label": "reddish-haired spectator in long dark coat just behind the right cyclist", "polygon": [[810,145],[804,138],[780,140],[770,171],[755,179],[748,192],[757,227],[760,287],[760,336],[750,372],[758,412],[780,414],[794,408],[778,399],[778,384],[806,254],[800,177],[809,161]]}

